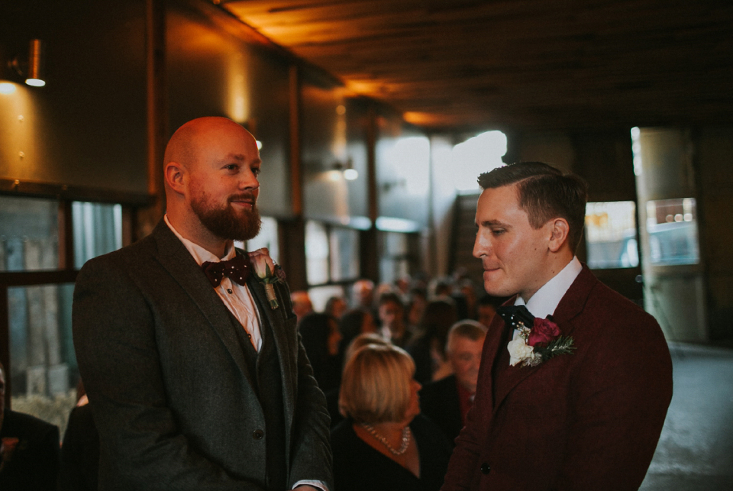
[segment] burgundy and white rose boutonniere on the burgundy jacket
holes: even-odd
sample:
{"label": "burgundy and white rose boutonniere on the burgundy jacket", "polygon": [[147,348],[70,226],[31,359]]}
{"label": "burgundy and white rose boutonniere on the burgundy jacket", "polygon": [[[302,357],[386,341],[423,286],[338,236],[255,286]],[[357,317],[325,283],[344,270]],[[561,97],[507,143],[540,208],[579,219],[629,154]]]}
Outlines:
{"label": "burgundy and white rose boutonniere on the burgundy jacket", "polygon": [[572,346],[570,336],[561,336],[560,328],[552,317],[534,320],[532,328],[519,323],[519,337],[507,344],[509,350],[509,364],[515,366],[537,366],[557,355],[572,355],[575,347]]}

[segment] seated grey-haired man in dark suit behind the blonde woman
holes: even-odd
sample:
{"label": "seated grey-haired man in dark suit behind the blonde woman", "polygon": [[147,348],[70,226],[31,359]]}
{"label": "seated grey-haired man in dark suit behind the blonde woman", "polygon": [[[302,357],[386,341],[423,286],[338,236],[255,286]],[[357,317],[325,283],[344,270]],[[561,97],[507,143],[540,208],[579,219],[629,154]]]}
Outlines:
{"label": "seated grey-haired man in dark suit behind the blonde woman", "polygon": [[453,374],[420,391],[422,413],[435,421],[451,442],[463,428],[465,415],[474,403],[485,337],[486,328],[475,320],[454,324],[446,343]]}

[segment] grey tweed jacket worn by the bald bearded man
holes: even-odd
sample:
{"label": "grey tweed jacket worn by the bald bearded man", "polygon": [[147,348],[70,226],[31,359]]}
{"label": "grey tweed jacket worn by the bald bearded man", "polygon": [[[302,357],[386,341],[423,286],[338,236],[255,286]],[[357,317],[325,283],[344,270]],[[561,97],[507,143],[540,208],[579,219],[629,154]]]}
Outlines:
{"label": "grey tweed jacket worn by the bald bearded man", "polygon": [[[333,489],[328,411],[295,328],[250,278],[282,373],[287,483]],[[100,490],[264,490],[265,416],[226,306],[161,221],[81,268],[73,303],[79,371],[100,432]],[[259,437],[259,438],[258,438]]]}

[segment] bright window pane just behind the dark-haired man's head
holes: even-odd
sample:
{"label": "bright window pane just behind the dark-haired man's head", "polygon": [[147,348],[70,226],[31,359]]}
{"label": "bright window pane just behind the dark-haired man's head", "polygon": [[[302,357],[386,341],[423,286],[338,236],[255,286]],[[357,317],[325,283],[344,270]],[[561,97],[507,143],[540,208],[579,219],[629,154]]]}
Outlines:
{"label": "bright window pane just behind the dark-haired man's head", "polygon": [[586,205],[588,266],[637,267],[636,204],[599,202]]}

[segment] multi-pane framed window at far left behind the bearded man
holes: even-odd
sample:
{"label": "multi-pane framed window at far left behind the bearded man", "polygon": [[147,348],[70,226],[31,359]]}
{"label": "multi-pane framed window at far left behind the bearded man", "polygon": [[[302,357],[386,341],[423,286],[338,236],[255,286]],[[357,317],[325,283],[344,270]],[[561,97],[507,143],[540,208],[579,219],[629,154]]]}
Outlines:
{"label": "multi-pane framed window at far left behind the bearded man", "polygon": [[10,404],[63,431],[76,402],[73,281],[88,259],[122,247],[122,206],[0,196],[0,357]]}

